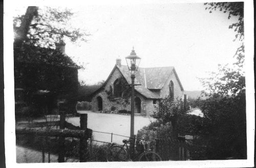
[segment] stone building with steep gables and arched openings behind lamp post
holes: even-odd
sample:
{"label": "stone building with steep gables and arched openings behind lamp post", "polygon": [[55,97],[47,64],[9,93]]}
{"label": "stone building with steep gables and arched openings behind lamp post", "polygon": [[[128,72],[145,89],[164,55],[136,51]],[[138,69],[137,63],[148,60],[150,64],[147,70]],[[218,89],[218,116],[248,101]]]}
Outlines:
{"label": "stone building with steep gables and arched openings behind lamp post", "polygon": [[[135,53],[133,50],[132,52]],[[131,111],[131,73],[127,65],[116,64],[108,79],[92,95],[93,111]],[[138,68],[135,74],[135,113],[151,115],[159,101],[170,95],[183,99],[183,87],[173,66]]]}

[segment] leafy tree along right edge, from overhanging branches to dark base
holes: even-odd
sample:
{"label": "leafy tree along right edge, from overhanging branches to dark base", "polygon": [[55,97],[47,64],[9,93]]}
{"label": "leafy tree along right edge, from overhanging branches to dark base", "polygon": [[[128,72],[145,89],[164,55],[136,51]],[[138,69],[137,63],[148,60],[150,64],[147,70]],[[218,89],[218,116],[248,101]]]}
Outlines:
{"label": "leafy tree along right edge, from overhanging branches to dark base", "polygon": [[[208,159],[246,159],[246,100],[244,66],[243,3],[206,3],[210,13],[215,10],[229,12],[228,18],[238,16],[238,22],[229,26],[237,32],[242,44],[234,54],[237,62],[219,65],[217,73],[201,79],[210,98],[201,100],[204,114],[198,134],[206,145]],[[235,40],[236,40],[235,39]]]}

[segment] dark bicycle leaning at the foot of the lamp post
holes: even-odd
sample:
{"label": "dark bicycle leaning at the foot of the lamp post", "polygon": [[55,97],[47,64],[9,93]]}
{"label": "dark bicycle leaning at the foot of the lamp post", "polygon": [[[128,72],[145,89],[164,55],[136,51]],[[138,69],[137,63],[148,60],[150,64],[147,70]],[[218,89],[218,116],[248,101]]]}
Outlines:
{"label": "dark bicycle leaning at the foot of the lamp post", "polygon": [[[146,150],[144,138],[138,138],[138,144],[131,143],[132,139],[123,139],[123,146],[111,143],[109,147],[108,161],[162,161],[161,157],[150,150]],[[136,145],[134,152],[127,144]],[[137,150],[136,150],[137,149]]]}

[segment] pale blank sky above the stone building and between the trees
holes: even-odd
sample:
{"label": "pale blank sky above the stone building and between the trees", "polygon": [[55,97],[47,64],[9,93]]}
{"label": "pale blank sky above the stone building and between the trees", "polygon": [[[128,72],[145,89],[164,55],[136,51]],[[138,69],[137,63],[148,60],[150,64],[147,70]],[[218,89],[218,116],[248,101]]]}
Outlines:
{"label": "pale blank sky above the stone building and between the trees", "polygon": [[184,90],[202,90],[198,78],[233,63],[239,46],[228,29],[236,17],[209,13],[203,3],[87,5],[72,7],[74,27],[92,34],[88,42],[66,41],[66,54],[85,69],[78,79],[91,85],[106,80],[116,58],[130,55],[134,46],[140,67],[174,66]]}

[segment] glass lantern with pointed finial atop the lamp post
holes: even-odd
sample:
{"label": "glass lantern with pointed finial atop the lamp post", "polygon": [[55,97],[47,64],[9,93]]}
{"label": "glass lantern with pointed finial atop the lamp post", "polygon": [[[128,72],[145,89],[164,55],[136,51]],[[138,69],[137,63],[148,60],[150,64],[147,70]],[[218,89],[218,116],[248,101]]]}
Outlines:
{"label": "glass lantern with pointed finial atop the lamp post", "polygon": [[136,55],[133,47],[131,54],[125,57],[128,69],[131,71],[131,74],[135,74],[135,72],[138,70],[140,59],[141,58]]}

